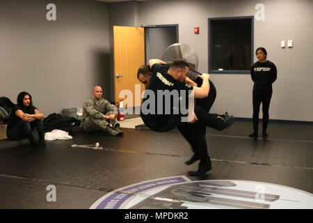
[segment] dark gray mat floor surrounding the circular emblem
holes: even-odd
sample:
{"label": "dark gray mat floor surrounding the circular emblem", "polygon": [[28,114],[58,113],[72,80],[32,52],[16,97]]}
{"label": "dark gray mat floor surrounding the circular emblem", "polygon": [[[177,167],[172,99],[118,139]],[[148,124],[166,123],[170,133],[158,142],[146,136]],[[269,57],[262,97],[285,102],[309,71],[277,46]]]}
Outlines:
{"label": "dark gray mat floor surrounding the circular emblem", "polygon": [[[251,125],[207,129],[213,169],[205,179],[255,180],[313,193],[313,125],[270,123],[268,139],[250,139]],[[73,139],[47,141],[45,148],[0,140],[0,208],[90,208],[120,187],[197,169],[198,163],[184,164],[192,152],[177,130],[123,130],[123,137],[78,130]],[[104,150],[70,146],[97,141]],[[47,185],[56,185],[57,202],[47,202]]]}

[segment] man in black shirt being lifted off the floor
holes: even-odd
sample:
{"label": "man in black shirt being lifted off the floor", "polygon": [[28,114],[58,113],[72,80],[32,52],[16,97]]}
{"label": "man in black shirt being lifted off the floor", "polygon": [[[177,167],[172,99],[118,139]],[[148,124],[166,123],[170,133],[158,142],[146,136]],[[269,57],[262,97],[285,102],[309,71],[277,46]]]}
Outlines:
{"label": "man in black shirt being lifted off the floor", "polygon": [[[184,105],[186,106],[188,102],[191,102],[188,100],[190,93],[193,93],[194,98],[207,98],[209,86],[211,85],[209,84],[209,75],[199,75],[198,77],[203,79],[203,82],[201,87],[197,87],[197,84],[191,82],[191,80],[186,77],[189,68],[188,63],[185,61],[175,61],[182,63],[182,68],[176,68],[177,65],[172,63],[170,69],[161,66],[161,64],[165,63],[161,60],[152,59],[149,62],[151,63],[150,67],[153,75],[151,75],[150,78],[141,78],[143,75],[138,75],[138,79],[146,85],[143,104],[141,105],[141,117],[147,127],[157,132],[166,132],[179,126],[182,122],[186,122],[182,121],[182,117],[186,120],[186,113],[188,111],[182,107],[184,107]],[[169,95],[172,98],[168,98]],[[177,100],[175,100],[175,98]],[[191,98],[193,100],[193,97]],[[212,102],[214,102],[214,100]],[[167,104],[165,105],[165,103]],[[210,103],[206,104],[209,105]],[[211,105],[209,105],[209,108],[210,107]],[[191,109],[191,113],[189,114],[192,114],[193,107],[189,107],[188,109]],[[232,124],[234,120],[232,116],[223,120],[223,118],[218,117],[217,114],[208,114],[206,110],[207,108],[203,109],[203,107],[195,106],[193,121],[189,120],[188,122],[194,123],[199,119],[202,125],[209,126],[216,130],[223,130]],[[192,119],[192,116],[189,116],[189,118]]]}

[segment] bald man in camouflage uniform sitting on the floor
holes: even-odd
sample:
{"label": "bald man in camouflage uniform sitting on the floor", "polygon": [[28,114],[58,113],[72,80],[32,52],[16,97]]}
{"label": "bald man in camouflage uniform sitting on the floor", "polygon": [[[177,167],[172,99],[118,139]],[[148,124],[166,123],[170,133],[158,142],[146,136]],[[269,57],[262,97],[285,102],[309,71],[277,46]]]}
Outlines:
{"label": "bald man in camouflage uniform sitting on the floor", "polygon": [[122,135],[117,117],[118,108],[102,98],[102,88],[95,86],[93,97],[83,103],[81,128],[86,132],[104,131],[113,136]]}

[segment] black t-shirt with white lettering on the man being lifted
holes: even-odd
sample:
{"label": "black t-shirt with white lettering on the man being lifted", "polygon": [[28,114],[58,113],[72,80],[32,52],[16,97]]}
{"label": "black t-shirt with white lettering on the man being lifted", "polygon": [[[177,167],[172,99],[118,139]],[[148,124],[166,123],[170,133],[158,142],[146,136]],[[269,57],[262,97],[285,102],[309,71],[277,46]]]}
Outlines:
{"label": "black t-shirt with white lettering on the man being lifted", "polygon": [[182,116],[187,116],[188,95],[192,91],[193,86],[175,80],[168,68],[155,63],[141,105],[145,125],[158,132],[177,127]]}

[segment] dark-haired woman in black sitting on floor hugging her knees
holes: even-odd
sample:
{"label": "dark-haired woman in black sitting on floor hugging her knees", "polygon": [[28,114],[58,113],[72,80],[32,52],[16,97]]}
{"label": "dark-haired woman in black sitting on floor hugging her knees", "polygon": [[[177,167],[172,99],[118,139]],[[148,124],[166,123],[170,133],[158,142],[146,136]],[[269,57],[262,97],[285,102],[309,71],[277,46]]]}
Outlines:
{"label": "dark-haired woman in black sitting on floor hugging her knees", "polygon": [[[45,134],[42,119],[45,116],[33,107],[31,95],[22,91],[17,96],[17,105],[13,107],[8,118],[6,135],[10,140],[21,140],[28,138],[31,146],[45,146]],[[35,141],[33,130],[37,128],[39,141]]]}

